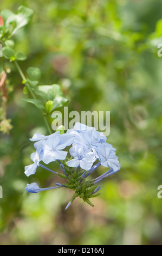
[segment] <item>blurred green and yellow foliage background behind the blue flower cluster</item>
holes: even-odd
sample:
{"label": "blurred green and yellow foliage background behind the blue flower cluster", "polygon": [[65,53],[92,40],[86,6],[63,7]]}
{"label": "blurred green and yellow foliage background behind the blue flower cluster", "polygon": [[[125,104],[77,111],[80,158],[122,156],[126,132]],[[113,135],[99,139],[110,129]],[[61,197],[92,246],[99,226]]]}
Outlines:
{"label": "blurred green and yellow foliage background behind the blue flower cluster", "polygon": [[161,1],[1,0],[1,10],[17,13],[21,4],[34,10],[14,38],[15,50],[28,56],[23,71],[37,66],[40,84],[60,84],[70,110],[111,112],[107,142],[121,170],[101,182],[94,208],[77,198],[65,211],[72,193],[64,188],[26,192],[27,183],[59,180],[41,168],[24,175],[34,151],[29,138],[47,130],[35,106],[21,100],[21,77],[8,63],[13,128],[0,135],[0,244],[161,245]]}

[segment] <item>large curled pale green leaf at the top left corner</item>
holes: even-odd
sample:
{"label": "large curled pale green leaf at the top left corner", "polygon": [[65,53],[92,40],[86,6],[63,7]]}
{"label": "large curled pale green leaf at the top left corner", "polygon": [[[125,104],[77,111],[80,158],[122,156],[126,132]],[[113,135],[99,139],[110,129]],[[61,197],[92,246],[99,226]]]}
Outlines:
{"label": "large curled pale green leaf at the top left corner", "polygon": [[[3,11],[1,15],[4,15],[5,17],[5,26],[10,27],[12,26],[12,32],[11,36],[14,35],[20,28],[24,27],[27,25],[31,19],[33,18],[33,10],[21,5],[17,9],[17,14],[13,14],[9,12],[8,10]],[[3,17],[3,16],[2,16]]]}

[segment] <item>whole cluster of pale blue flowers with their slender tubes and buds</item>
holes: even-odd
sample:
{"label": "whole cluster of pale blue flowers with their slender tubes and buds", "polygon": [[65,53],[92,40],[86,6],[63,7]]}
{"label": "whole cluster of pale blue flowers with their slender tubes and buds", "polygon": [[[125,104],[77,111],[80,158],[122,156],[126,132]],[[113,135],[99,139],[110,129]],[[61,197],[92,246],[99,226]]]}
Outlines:
{"label": "whole cluster of pale blue flowers with their slender tubes and buds", "polygon": [[[24,173],[27,176],[35,174],[37,167],[40,166],[57,174],[40,163],[43,162],[49,164],[50,162],[57,160],[60,163],[62,173],[69,179],[61,161],[66,161],[68,151],[65,151],[64,149],[71,145],[72,147],[69,149],[71,158],[66,161],[66,165],[72,167],[72,169],[76,168],[76,172],[79,169],[84,170],[80,177],[80,184],[87,178],[87,176],[95,172],[96,168],[100,165],[109,168],[106,173],[93,180],[93,184],[96,184],[103,178],[120,170],[120,164],[118,157],[115,154],[115,149],[111,144],[106,142],[106,139],[107,137],[104,136],[102,132],[96,131],[94,127],[89,127],[81,123],[75,123],[74,129],[67,130],[67,132],[63,134],[61,134],[60,131],[49,136],[35,133],[33,138],[30,139],[30,141],[35,142],[34,148],[36,151],[31,154],[31,160],[34,163],[25,166]],[[66,185],[62,184],[56,185],[56,187],[39,188],[34,182],[32,184],[27,184],[25,190],[30,193],[37,193],[52,188],[66,187]],[[98,192],[100,189],[100,186],[96,187],[92,194]],[[71,202],[67,205],[67,208],[70,204]]]}

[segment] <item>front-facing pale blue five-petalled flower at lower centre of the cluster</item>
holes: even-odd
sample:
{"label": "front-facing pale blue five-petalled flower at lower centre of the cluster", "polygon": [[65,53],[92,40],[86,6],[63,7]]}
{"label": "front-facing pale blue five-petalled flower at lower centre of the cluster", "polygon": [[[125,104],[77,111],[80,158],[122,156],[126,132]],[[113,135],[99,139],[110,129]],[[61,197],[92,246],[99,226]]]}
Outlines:
{"label": "front-facing pale blue five-petalled flower at lower centre of the cluster", "polygon": [[74,159],[67,162],[69,167],[78,167],[82,169],[89,170],[96,157],[91,149],[87,149],[84,145],[75,143],[72,148],[70,148],[69,153]]}

